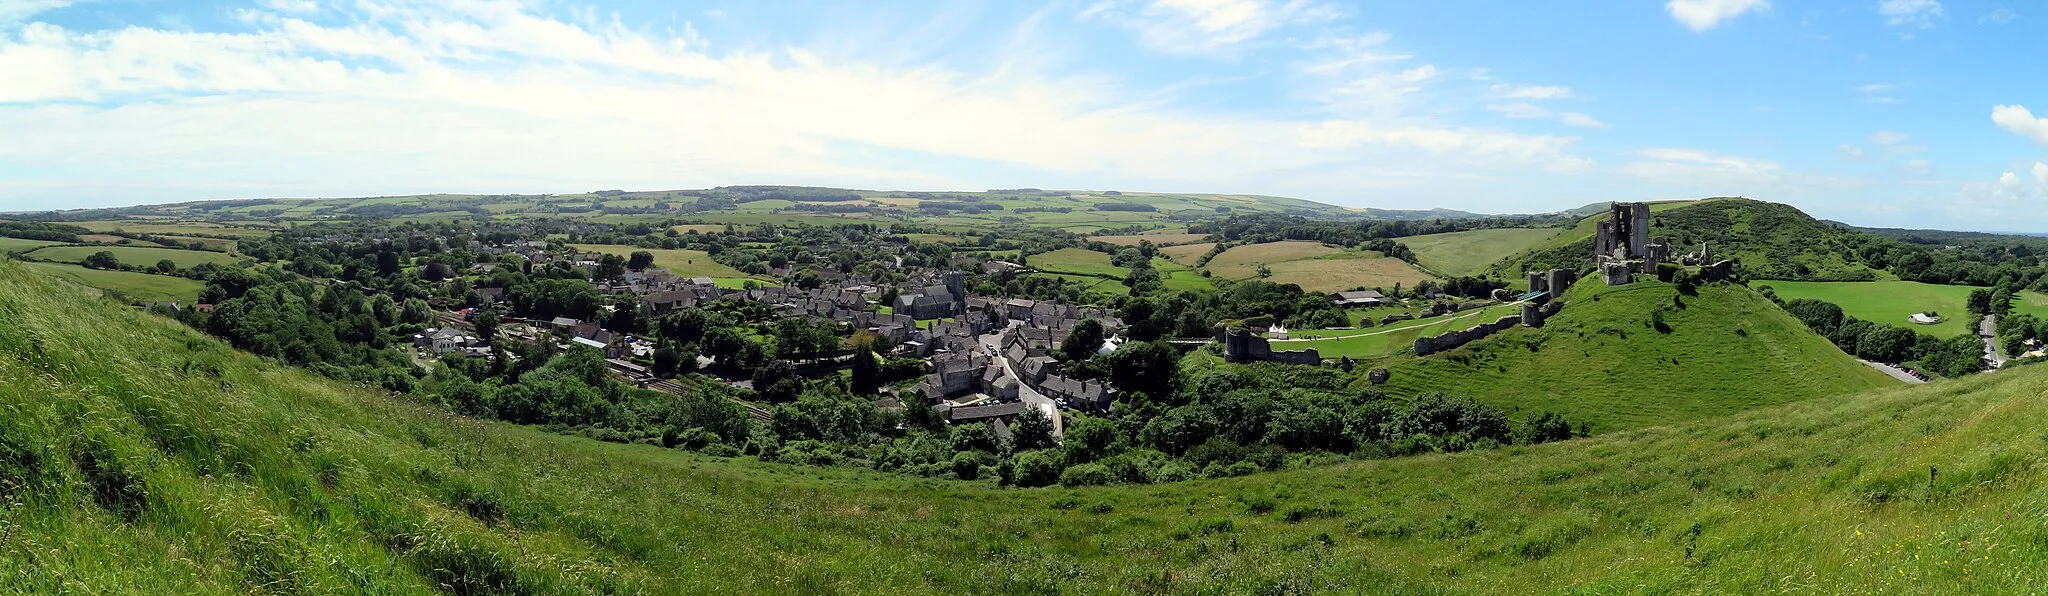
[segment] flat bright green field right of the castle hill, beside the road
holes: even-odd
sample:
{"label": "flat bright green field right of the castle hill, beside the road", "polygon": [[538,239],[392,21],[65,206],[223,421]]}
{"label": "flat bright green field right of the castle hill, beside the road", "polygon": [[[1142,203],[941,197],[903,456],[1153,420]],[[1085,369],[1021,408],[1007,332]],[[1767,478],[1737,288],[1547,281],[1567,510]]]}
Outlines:
{"label": "flat bright green field right of the castle hill, beside the road", "polygon": [[[1976,332],[1976,317],[1968,311],[1970,291],[1974,287],[1966,285],[1931,285],[1917,281],[1757,281],[1751,285],[1767,285],[1780,299],[1831,301],[1839,305],[1845,315],[1872,324],[1909,328],[1935,338],[1954,338]],[[2048,297],[2038,293],[2021,293],[2021,299],[2013,301],[2013,305],[2017,311],[2048,313]],[[1913,313],[1927,311],[1939,313],[1942,322],[1921,326],[1907,320]]]}

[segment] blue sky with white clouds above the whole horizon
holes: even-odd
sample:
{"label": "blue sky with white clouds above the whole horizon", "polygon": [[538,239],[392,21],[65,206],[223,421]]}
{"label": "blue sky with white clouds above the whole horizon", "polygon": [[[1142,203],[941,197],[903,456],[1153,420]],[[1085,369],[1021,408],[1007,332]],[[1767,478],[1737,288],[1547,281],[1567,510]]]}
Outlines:
{"label": "blue sky with white clouds above the whole horizon", "polygon": [[0,211],[819,184],[2048,231],[2048,6],[0,0]]}

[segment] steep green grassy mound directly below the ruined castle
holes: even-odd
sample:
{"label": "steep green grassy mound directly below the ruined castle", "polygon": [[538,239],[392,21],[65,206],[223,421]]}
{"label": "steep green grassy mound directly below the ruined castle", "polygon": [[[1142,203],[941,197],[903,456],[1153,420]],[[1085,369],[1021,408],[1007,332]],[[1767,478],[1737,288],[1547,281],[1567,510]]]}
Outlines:
{"label": "steep green grassy mound directly below the ruined castle", "polygon": [[[1677,299],[1677,301],[1673,301]],[[1677,307],[1683,303],[1683,307]],[[1657,330],[1653,313],[1667,330]],[[1892,385],[1755,291],[1581,281],[1540,330],[1382,365],[1399,395],[1446,391],[1593,428],[1669,424]]]}

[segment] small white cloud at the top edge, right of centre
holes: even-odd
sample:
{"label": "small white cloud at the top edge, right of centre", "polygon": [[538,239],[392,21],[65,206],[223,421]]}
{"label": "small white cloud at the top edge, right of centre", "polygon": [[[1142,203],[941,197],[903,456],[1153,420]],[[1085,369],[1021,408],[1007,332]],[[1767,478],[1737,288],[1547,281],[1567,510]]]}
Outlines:
{"label": "small white cloud at the top edge, right of centre", "polygon": [[1280,27],[1337,16],[1339,10],[1307,0],[1102,0],[1079,14],[1081,20],[1137,31],[1151,49],[1196,55],[1229,55]]}

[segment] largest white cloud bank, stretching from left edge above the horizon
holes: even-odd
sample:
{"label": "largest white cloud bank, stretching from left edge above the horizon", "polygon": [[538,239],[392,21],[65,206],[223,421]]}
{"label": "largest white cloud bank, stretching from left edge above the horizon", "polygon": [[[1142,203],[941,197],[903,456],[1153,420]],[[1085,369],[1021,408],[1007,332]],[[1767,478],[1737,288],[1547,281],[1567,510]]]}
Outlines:
{"label": "largest white cloud bank, stretching from left edge above the horizon", "polygon": [[[1577,137],[1399,109],[1196,111],[1094,78],[877,66],[803,47],[713,53],[688,35],[565,23],[522,2],[362,6],[371,10],[344,25],[250,14],[254,31],[240,35],[0,33],[0,72],[10,76],[0,164],[31,172],[0,180],[0,201],[745,180],[1290,190],[1300,188],[1288,186],[1296,172],[1317,168],[1356,176],[1325,193],[1427,190],[1473,172],[1591,166],[1575,154]],[[1362,84],[1350,92],[1399,98],[1434,78],[1436,68],[1417,66],[1352,78]],[[930,158],[971,166],[922,166]]]}

